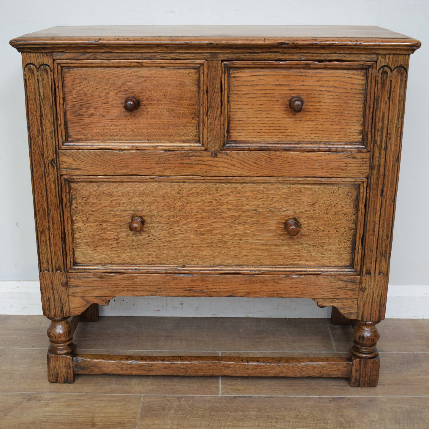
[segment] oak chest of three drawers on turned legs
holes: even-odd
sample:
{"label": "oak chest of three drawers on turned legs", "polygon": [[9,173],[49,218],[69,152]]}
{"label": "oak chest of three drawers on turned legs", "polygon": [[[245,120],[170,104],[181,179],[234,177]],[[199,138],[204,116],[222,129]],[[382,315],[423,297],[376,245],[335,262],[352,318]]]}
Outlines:
{"label": "oak chest of three drawers on turned legs", "polygon": [[[50,381],[377,384],[420,42],[378,27],[129,26],[11,44],[23,53]],[[78,354],[79,320],[123,295],[311,298],[352,321],[354,344],[348,358]]]}

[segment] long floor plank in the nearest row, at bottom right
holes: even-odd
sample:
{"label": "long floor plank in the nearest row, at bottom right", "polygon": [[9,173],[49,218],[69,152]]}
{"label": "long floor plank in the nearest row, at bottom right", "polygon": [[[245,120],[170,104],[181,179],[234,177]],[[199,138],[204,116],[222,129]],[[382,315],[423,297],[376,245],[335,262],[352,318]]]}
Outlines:
{"label": "long floor plank in the nearest row, at bottom right", "polygon": [[426,429],[426,403],[427,398],[145,396],[138,427]]}

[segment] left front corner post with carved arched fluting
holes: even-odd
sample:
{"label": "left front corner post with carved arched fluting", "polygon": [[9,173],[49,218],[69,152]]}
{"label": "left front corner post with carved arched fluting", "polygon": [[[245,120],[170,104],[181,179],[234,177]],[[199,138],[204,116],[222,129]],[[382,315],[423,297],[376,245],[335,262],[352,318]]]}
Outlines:
{"label": "left front corner post with carved arched fluting", "polygon": [[43,314],[68,317],[54,124],[53,60],[50,55],[24,54],[22,64]]}

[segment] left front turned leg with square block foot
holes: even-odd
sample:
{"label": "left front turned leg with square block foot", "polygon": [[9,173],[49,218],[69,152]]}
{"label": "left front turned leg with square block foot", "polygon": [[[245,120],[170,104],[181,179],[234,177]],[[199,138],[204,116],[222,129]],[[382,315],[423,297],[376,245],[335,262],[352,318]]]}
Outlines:
{"label": "left front turned leg with square block foot", "polygon": [[51,383],[73,383],[73,327],[67,317],[51,319],[48,328],[48,380]]}

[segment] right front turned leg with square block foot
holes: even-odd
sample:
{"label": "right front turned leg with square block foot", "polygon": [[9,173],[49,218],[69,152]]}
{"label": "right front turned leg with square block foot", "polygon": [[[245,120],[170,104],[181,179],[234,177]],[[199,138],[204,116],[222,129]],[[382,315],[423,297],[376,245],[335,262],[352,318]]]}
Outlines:
{"label": "right front turned leg with square block foot", "polygon": [[380,358],[377,341],[380,338],[378,322],[358,321],[353,329],[353,347],[349,356],[352,359],[350,386],[375,387],[378,384]]}

